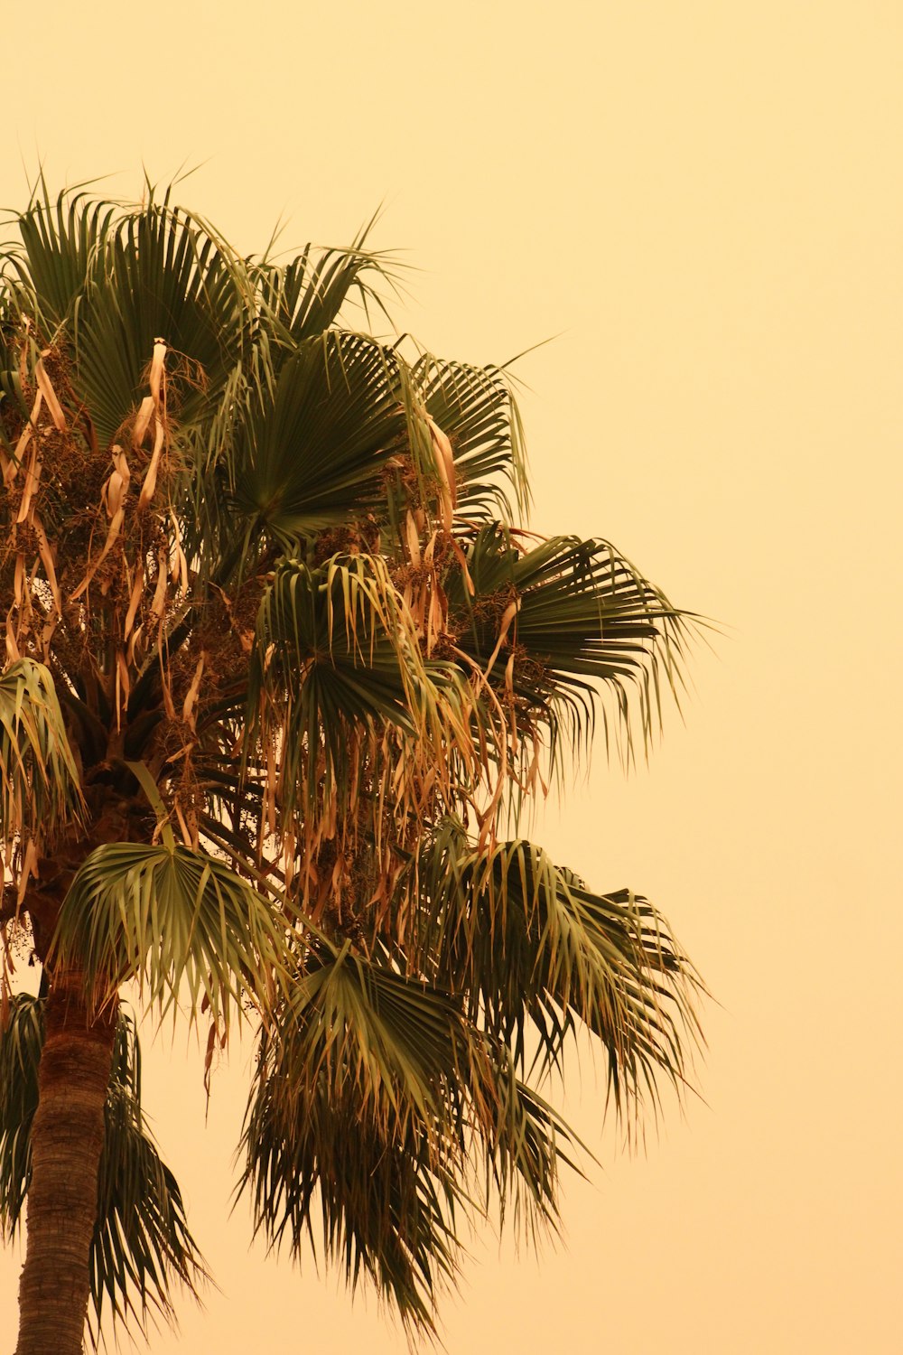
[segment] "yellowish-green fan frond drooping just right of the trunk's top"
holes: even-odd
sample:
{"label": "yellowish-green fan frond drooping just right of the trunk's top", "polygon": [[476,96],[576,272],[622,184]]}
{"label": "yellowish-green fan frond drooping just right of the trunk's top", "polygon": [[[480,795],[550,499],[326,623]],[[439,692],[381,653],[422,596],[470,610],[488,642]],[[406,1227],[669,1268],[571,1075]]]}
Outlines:
{"label": "yellowish-green fan frond drooping just right of the trunk's top", "polygon": [[264,897],[225,862],[176,844],[107,843],[80,866],[51,942],[100,1000],[134,980],[161,1012],[202,1004],[227,1026],[233,1005],[259,1000],[284,961],[282,928]]}

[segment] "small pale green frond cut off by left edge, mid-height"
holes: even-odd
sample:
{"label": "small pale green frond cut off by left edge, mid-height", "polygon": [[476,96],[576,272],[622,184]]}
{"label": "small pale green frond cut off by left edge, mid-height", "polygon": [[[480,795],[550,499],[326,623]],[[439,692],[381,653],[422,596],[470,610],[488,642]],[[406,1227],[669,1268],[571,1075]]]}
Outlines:
{"label": "small pale green frond cut off by left edge, mid-height", "polygon": [[18,659],[0,675],[0,836],[46,839],[83,808],[50,671]]}

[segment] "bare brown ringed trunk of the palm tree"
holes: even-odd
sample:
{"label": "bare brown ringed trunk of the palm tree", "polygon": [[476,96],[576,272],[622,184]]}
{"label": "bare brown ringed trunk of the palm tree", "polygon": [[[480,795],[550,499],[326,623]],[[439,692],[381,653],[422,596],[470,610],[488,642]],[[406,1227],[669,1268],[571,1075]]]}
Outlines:
{"label": "bare brown ringed trunk of the palm tree", "polygon": [[26,1262],[15,1355],[81,1355],[115,1009],[91,1018],[83,976],[57,972],[31,1126]]}

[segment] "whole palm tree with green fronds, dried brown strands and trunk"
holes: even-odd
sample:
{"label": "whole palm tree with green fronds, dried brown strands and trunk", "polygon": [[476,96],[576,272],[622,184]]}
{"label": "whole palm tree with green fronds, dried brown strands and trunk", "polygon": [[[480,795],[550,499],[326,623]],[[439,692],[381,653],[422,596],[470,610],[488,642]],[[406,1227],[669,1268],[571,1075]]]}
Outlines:
{"label": "whole palm tree with green fronds, dried brown strands and trunk", "polygon": [[[256,1030],[255,1229],[435,1329],[462,1226],[558,1218],[542,1092],[589,1031],[628,1118],[680,1091],[692,966],[519,835],[653,730],[686,621],[540,539],[502,370],[379,341],[364,249],[242,259],[169,194],[43,184],[0,289],[0,1225],[18,1355],[144,1328],[203,1259],[135,1024]],[[340,320],[340,316],[344,317]],[[601,701],[600,701],[601,696]],[[14,981],[41,969],[37,996]],[[322,1232],[320,1233],[320,1230]],[[314,1241],[317,1236],[320,1241]]]}

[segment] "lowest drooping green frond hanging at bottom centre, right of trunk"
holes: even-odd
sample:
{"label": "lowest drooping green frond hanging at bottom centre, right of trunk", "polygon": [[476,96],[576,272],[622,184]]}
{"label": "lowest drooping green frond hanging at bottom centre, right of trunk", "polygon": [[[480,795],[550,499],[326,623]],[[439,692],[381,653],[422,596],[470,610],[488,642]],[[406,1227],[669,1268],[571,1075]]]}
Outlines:
{"label": "lowest drooping green frond hanging at bottom centre, right of trunk", "polygon": [[[255,1225],[368,1275],[405,1322],[432,1329],[459,1243],[466,1031],[447,996],[348,947],[314,957],[261,1035],[245,1118]],[[451,1117],[451,1119],[449,1119]]]}

